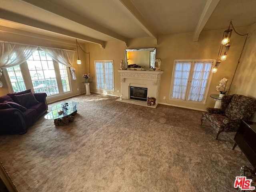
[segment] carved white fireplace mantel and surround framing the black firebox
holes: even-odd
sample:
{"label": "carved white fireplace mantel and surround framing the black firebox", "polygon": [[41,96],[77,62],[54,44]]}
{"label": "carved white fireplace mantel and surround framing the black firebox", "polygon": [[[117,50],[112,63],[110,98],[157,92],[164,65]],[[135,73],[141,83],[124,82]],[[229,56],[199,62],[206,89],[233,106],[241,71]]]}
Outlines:
{"label": "carved white fireplace mantel and surround framing the black firebox", "polygon": [[151,70],[118,70],[121,79],[121,94],[124,99],[130,99],[130,86],[148,88],[148,97],[156,98],[160,88],[160,80],[163,71]]}

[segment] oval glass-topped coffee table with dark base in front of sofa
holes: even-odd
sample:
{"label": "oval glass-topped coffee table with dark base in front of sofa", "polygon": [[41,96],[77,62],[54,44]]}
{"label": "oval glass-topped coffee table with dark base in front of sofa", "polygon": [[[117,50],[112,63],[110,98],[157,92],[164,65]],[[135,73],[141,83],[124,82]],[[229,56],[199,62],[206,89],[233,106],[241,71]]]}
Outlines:
{"label": "oval glass-topped coffee table with dark base in front of sofa", "polygon": [[54,120],[54,125],[68,125],[74,120],[77,112],[78,102],[66,101],[54,105],[52,111],[46,114],[44,118]]}

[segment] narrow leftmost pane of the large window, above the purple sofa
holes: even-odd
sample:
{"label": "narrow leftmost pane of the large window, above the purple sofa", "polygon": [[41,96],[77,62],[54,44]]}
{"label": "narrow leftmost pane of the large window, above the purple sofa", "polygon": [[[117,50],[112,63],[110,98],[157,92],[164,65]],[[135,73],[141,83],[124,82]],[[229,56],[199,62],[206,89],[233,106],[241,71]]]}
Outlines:
{"label": "narrow leftmost pane of the large window, above the purple sofa", "polygon": [[26,90],[19,65],[7,68],[7,72],[14,92],[21,92]]}

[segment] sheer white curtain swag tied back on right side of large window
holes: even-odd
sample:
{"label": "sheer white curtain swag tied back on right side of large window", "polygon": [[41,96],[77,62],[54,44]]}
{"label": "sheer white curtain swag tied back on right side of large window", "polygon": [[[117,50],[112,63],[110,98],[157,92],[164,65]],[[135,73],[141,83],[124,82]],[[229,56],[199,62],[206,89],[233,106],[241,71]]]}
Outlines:
{"label": "sheer white curtain swag tied back on right side of large window", "polygon": [[72,79],[76,80],[75,68],[73,67],[74,51],[62,50],[62,49],[52,49],[40,47],[44,52],[46,52],[52,59],[56,60],[58,63],[70,68]]}

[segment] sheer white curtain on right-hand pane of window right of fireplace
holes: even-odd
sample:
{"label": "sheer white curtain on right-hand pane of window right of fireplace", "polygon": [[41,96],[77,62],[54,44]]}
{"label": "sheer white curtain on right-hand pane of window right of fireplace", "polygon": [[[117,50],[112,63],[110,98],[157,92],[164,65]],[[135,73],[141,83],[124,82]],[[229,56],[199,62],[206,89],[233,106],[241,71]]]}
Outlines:
{"label": "sheer white curtain on right-hand pane of window right of fireplace", "polygon": [[211,67],[211,62],[195,62],[190,91],[188,94],[189,101],[202,102],[204,99],[204,92]]}

